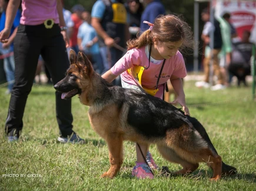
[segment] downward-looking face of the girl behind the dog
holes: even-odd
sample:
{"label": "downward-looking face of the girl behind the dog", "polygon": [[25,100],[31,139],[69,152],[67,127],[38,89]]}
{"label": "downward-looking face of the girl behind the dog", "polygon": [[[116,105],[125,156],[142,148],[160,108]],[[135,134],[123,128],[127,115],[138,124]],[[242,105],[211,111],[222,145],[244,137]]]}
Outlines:
{"label": "downward-looking face of the girl behind the dog", "polygon": [[161,56],[164,59],[168,59],[176,55],[178,49],[182,45],[182,40],[176,42],[160,42],[154,39],[153,41],[154,48],[157,49],[159,56]]}

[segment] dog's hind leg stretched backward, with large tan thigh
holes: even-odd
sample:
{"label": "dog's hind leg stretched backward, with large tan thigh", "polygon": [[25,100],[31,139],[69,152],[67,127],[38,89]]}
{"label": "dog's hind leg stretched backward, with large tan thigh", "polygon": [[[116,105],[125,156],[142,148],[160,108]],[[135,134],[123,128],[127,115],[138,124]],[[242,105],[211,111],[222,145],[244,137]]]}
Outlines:
{"label": "dog's hind leg stretched backward, with large tan thigh", "polygon": [[207,162],[214,171],[211,180],[220,179],[221,157],[197,130],[191,126],[183,125],[179,129],[169,130],[166,134],[167,147],[173,149],[179,158],[192,164]]}

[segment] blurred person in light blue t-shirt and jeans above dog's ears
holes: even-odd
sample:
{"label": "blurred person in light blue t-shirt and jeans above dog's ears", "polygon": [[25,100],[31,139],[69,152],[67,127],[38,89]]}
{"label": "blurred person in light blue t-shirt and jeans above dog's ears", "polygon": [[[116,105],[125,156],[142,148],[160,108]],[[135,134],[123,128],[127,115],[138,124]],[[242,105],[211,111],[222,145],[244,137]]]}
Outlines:
{"label": "blurred person in light blue t-shirt and jeans above dog's ears", "polygon": [[91,14],[88,11],[82,13],[84,22],[78,28],[77,43],[79,51],[87,55],[88,59],[92,62],[94,70],[102,74],[103,63],[101,53],[99,52],[99,43],[97,32],[91,25]]}

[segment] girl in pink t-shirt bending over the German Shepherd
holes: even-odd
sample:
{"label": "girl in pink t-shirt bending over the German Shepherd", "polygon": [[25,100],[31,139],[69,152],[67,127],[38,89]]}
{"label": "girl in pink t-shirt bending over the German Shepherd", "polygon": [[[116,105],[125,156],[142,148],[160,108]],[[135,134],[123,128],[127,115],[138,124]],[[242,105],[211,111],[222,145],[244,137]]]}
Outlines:
{"label": "girl in pink t-shirt bending over the German Shepherd", "polygon": [[[128,41],[128,52],[104,75],[112,82],[121,75],[122,87],[146,91],[157,98],[163,99],[165,83],[171,80],[177,99],[172,104],[179,103],[189,115],[185,102],[185,94],[181,78],[187,75],[184,59],[178,49],[192,48],[192,32],[187,23],[174,15],[160,16],[154,24],[147,21],[150,28],[137,39]],[[146,156],[152,169],[157,165],[149,153],[149,145],[136,145],[137,163],[132,175],[138,178],[154,178],[149,166],[144,162]],[[142,156],[143,154],[143,156]]]}

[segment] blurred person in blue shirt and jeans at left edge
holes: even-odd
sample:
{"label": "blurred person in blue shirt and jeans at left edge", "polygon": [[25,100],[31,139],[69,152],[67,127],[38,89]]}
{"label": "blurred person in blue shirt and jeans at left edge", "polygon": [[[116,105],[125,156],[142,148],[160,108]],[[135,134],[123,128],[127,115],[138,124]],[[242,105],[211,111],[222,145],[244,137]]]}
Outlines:
{"label": "blurred person in blue shirt and jeans at left edge", "polygon": [[[6,20],[6,8],[8,6],[9,0],[0,0],[0,7],[3,9],[1,18],[0,18],[0,31],[5,28]],[[14,62],[14,38],[19,26],[19,19],[21,19],[21,11],[19,9],[16,11],[14,22],[11,26],[9,41],[6,43],[1,43],[0,52],[2,58],[4,58],[4,71],[6,76],[6,81],[8,82],[8,89],[6,94],[12,92],[14,87],[14,72],[15,72],[15,62]]]}

